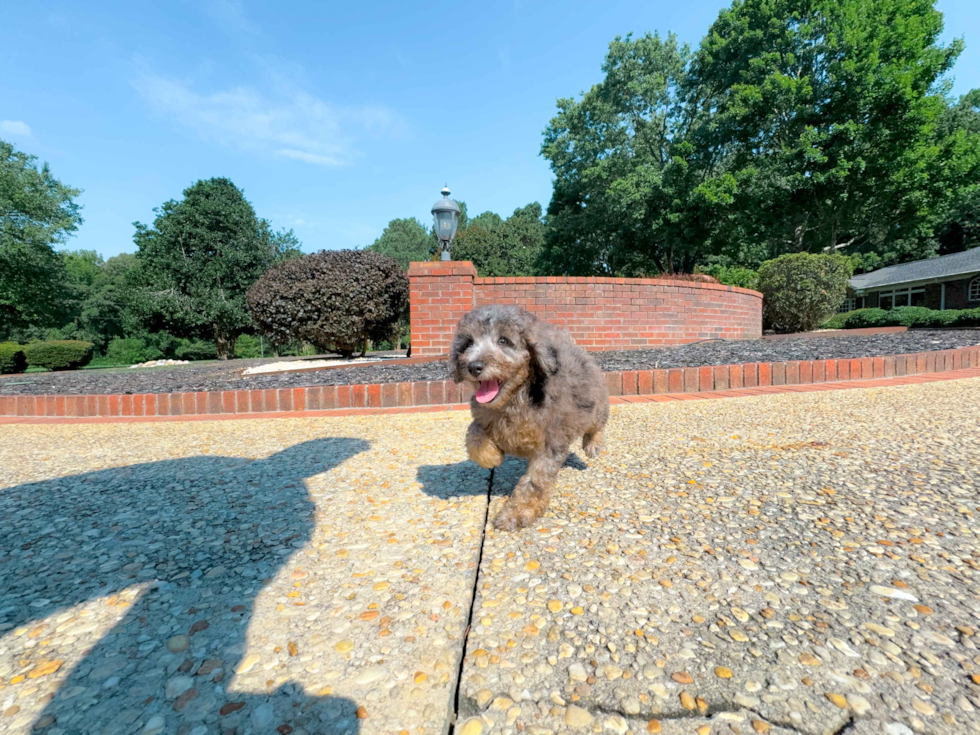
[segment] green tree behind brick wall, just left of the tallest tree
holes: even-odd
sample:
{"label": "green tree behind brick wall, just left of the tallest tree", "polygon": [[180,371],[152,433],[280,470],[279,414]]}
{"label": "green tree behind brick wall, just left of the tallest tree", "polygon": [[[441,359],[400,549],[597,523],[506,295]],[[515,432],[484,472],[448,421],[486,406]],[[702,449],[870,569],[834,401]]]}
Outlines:
{"label": "green tree behind brick wall, just left of the tallest tree", "polygon": [[735,185],[705,185],[721,162],[688,140],[699,122],[684,97],[690,60],[673,34],[617,37],[603,81],[558,100],[541,149],[555,174],[542,272],[691,271],[715,247],[715,210]]}

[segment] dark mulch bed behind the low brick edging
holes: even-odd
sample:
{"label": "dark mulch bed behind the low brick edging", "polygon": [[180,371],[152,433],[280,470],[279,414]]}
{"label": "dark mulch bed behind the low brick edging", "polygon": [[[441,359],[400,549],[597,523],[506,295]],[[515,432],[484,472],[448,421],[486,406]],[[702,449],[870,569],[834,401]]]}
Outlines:
{"label": "dark mulch bed behind the low brick edging", "polygon": [[[607,371],[730,365],[784,360],[833,360],[876,357],[911,352],[947,350],[980,344],[980,330],[921,330],[863,337],[799,337],[750,341],[714,340],[655,350],[595,353]],[[284,358],[289,359],[289,358]],[[279,373],[242,377],[241,369],[261,360],[184,365],[134,370],[78,370],[64,373],[29,373],[0,378],[0,395],[175,393],[183,391],[295,388],[306,385],[350,385],[443,380],[449,377],[444,362],[416,365],[377,365],[307,373]],[[267,360],[266,360],[267,362]]]}

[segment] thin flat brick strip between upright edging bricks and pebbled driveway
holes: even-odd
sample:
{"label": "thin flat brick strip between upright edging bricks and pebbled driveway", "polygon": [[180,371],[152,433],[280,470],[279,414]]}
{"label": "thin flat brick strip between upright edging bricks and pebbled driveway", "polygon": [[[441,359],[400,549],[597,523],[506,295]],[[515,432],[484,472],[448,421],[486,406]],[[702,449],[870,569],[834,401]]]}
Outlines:
{"label": "thin flat brick strip between upright edging bricks and pebbled driveway", "polygon": [[[735,388],[722,391],[702,391],[698,393],[666,393],[654,395],[612,396],[613,405],[631,403],[667,403],[690,400],[721,400],[724,398],[746,398],[762,395],[782,395],[786,393],[812,393],[830,390],[853,390],[857,388],[885,388],[903,385],[919,385],[943,380],[962,380],[980,378],[980,367],[961,368],[936,373],[897,376],[871,380],[848,380],[834,383],[810,383],[804,385],[763,386],[755,388]],[[236,421],[246,419],[273,418],[323,418],[344,416],[388,416],[400,413],[436,413],[443,411],[465,411],[468,404],[435,404],[427,406],[404,406],[391,408],[346,408],[325,411],[277,411],[269,413],[246,414],[190,414],[176,416],[0,416],[0,425],[12,424],[104,424],[104,423],[153,423],[160,421]]]}

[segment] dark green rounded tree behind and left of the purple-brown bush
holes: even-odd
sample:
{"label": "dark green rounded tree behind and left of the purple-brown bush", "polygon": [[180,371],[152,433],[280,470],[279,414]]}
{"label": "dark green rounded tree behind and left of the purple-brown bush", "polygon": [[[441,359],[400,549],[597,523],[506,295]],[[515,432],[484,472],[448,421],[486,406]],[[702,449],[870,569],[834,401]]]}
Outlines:
{"label": "dark green rounded tree behind and left of the purple-brown bush", "polygon": [[144,322],[153,331],[209,338],[227,359],[251,326],[245,293],[291,257],[298,241],[274,233],[228,179],[198,181],[182,200],[154,211],[152,227],[135,223]]}

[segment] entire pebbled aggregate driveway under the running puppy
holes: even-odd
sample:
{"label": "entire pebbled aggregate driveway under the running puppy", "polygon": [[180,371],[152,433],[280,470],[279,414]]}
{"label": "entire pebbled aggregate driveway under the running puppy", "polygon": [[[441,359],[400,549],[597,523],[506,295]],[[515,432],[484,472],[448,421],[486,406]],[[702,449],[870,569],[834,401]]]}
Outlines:
{"label": "entire pebbled aggregate driveway under the running puppy", "polygon": [[980,732],[978,409],[615,407],[521,534],[463,413],[0,426],[0,733]]}

